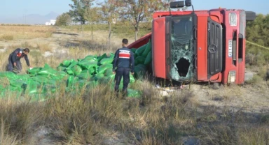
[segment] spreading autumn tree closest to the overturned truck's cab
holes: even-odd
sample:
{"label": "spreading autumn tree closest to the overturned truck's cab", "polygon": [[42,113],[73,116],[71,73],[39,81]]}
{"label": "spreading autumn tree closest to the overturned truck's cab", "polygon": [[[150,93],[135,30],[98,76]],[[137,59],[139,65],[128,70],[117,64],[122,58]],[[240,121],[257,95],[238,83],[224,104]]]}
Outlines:
{"label": "spreading autumn tree closest to the overturned truck's cab", "polygon": [[121,8],[120,13],[124,14],[124,17],[134,26],[135,40],[137,40],[139,32],[139,23],[145,21],[154,11],[169,6],[167,0],[118,0],[114,3]]}

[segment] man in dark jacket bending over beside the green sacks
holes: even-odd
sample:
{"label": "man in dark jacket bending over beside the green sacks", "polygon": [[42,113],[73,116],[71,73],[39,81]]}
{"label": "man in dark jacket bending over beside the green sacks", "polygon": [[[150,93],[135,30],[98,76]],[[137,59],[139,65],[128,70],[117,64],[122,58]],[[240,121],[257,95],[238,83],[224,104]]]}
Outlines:
{"label": "man in dark jacket bending over beside the green sacks", "polygon": [[17,48],[14,50],[14,52],[9,54],[8,67],[7,67],[8,71],[20,73],[20,71],[22,70],[22,63],[20,62],[20,59],[22,57],[25,58],[27,66],[31,67],[27,56],[29,52],[30,52],[29,48],[25,49]]}

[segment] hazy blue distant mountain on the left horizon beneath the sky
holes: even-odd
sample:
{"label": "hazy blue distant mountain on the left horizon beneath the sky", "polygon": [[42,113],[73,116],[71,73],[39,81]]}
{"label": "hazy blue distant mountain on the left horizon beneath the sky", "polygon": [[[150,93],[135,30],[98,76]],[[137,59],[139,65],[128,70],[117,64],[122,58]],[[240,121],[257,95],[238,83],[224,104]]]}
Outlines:
{"label": "hazy blue distant mountain on the left horizon beneath the sky", "polygon": [[56,20],[58,14],[50,12],[47,15],[29,14],[22,17],[11,17],[8,19],[0,19],[0,24],[45,24],[50,20]]}

